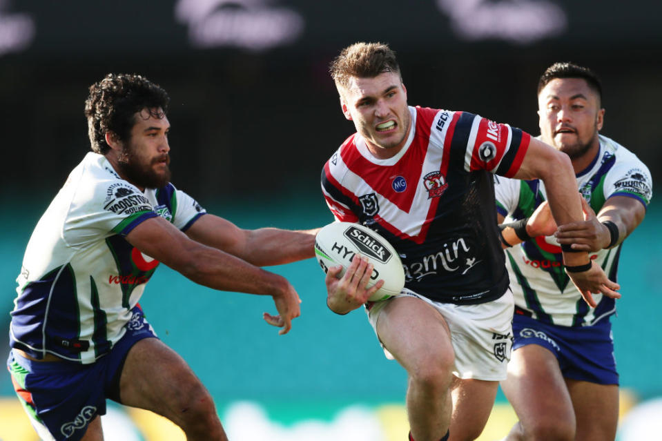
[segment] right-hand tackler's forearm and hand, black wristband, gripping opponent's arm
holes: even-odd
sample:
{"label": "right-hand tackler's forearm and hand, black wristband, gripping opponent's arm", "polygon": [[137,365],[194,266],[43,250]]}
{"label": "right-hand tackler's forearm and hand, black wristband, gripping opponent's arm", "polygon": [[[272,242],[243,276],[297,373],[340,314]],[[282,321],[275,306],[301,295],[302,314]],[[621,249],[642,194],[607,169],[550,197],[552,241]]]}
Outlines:
{"label": "right-hand tackler's forearm and hand, black wristband, gripping opponent's arm", "polygon": [[[641,224],[646,214],[645,206],[638,199],[627,196],[610,197],[597,216],[585,201],[583,210],[586,213],[585,221],[570,222],[558,227],[556,240],[559,244],[571,244],[572,248],[581,251],[612,248],[623,242]],[[616,228],[614,236],[603,222],[612,222],[612,228]]]}

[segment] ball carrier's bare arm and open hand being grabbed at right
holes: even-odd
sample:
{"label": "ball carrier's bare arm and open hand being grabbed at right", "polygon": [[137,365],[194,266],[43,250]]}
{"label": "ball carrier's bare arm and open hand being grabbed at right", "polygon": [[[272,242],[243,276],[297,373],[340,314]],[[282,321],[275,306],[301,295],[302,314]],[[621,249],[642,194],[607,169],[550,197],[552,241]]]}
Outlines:
{"label": "ball carrier's bare arm and open hand being grabbed at right", "polygon": [[[514,176],[517,179],[538,178],[547,188],[549,207],[556,224],[578,222],[583,219],[581,196],[577,192],[577,182],[572,163],[564,153],[561,153],[543,141],[532,138],[527,154],[520,169]],[[615,290],[619,284],[609,280],[602,268],[592,264],[585,251],[563,252],[563,262],[566,272],[584,300],[590,306],[596,306],[592,293],[602,293],[612,298],[620,298]],[[586,267],[584,271],[567,269]]]}

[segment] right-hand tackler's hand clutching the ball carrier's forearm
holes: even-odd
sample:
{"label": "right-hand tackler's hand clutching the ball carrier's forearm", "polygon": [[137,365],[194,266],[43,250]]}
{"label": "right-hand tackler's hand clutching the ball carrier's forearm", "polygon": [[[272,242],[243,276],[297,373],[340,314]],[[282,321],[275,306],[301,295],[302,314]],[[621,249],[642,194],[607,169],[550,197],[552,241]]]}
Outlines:
{"label": "right-hand tackler's hand clutching the ball carrier's forearm", "polygon": [[583,197],[581,199],[584,219],[558,227],[554,236],[559,244],[570,244],[577,251],[598,251],[609,246],[612,236],[609,228],[596,217],[595,212]]}

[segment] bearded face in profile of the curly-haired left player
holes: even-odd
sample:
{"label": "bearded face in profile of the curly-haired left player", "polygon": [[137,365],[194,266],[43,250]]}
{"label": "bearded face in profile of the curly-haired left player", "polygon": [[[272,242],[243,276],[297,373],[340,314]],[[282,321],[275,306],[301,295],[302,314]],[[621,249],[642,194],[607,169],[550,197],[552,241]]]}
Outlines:
{"label": "bearded face in profile of the curly-haired left player", "polygon": [[134,118],[130,138],[118,157],[117,171],[139,188],[161,188],[171,179],[168,167],[170,122],[160,108],[144,109],[137,112]]}

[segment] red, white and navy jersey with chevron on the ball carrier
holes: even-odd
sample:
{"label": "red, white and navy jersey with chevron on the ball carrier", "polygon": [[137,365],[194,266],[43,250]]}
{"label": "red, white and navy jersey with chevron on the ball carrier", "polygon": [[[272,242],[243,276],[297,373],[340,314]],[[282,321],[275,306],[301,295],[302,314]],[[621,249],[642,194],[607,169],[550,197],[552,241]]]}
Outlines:
{"label": "red, white and navy jersey with chevron on the ball carrier", "polygon": [[322,171],[335,219],[386,237],[405,266],[405,286],[431,300],[477,304],[508,286],[492,209],[492,173],[514,175],[530,137],[467,112],[409,108],[405,146],[373,157],[354,134]]}

